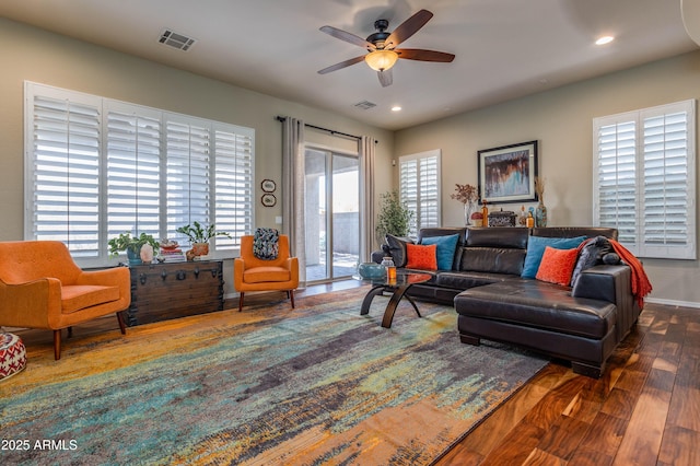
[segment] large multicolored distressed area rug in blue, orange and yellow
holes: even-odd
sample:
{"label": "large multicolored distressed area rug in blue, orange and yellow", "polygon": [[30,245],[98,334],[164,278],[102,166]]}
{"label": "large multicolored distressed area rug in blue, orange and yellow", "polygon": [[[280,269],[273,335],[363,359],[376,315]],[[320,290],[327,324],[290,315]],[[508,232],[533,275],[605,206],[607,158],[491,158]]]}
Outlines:
{"label": "large multicolored distressed area rug in blue, orange and yellow", "polygon": [[56,362],[27,348],[0,463],[430,464],[547,363],[460,343],[448,306],[382,328],[365,291],[77,335]]}

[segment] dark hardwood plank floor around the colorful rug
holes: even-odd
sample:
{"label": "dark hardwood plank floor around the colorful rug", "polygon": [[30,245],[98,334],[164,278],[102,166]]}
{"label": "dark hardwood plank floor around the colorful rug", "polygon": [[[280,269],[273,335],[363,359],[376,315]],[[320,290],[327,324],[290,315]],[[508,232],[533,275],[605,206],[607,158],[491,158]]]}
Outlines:
{"label": "dark hardwood plank floor around the colorful rug", "polygon": [[[317,284],[295,295],[354,287]],[[255,293],[246,304],[270,299],[278,298]],[[27,343],[51,340],[46,330],[22,336]],[[552,361],[435,464],[700,465],[699,444],[700,310],[646,304],[602,378]]]}

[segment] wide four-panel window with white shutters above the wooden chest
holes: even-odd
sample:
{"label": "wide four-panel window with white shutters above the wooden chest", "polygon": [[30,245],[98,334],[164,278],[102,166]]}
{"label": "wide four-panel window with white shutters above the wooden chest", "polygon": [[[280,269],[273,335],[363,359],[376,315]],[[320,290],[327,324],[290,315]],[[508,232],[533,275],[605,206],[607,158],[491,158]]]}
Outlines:
{"label": "wide four-panel window with white shutters above the wooden chest", "polygon": [[27,240],[65,242],[81,266],[107,263],[124,232],[187,240],[215,223],[220,257],[253,231],[250,128],[27,82]]}

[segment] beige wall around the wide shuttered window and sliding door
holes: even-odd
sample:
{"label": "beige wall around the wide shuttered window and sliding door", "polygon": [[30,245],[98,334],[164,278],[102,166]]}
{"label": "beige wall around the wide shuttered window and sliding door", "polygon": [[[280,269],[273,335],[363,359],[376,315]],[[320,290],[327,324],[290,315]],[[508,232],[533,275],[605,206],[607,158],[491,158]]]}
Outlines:
{"label": "beige wall around the wide shuttered window and sliding door", "polygon": [[[374,137],[380,141],[376,145],[377,186],[392,183],[388,161],[394,152],[394,133],[330,112],[275,98],[4,19],[0,19],[0,241],[23,237],[25,80],[255,128],[258,199],[262,194],[260,180],[270,178],[281,187],[281,125],[275,119],[278,115],[302,118],[308,124],[350,135]],[[258,202],[256,224],[278,226],[276,217],[281,214],[281,202],[275,208],[264,208]],[[226,266],[231,268],[230,264]],[[232,278],[226,279],[226,294],[233,292],[232,282]]]}

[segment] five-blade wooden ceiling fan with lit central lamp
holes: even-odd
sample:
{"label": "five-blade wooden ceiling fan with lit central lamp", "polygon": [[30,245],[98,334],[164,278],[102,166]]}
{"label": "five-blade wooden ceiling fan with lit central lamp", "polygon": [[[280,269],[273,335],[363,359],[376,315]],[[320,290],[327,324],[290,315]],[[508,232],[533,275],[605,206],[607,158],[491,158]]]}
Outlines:
{"label": "five-blade wooden ceiling fan with lit central lamp", "polygon": [[360,61],[365,61],[370,68],[377,72],[380,82],[386,88],[394,82],[392,67],[399,58],[419,61],[439,61],[443,63],[451,62],[455,59],[455,56],[444,51],[423,50],[420,48],[396,48],[400,43],[423,27],[431,18],[433,18],[433,13],[428,10],[420,10],[401,23],[393,33],[386,32],[389,26],[388,20],[377,20],[374,22],[374,28],[377,32],[371,34],[366,39],[337,27],[323,26],[320,28],[322,32],[340,40],[359,45],[365,48],[368,54],[324,68],[319,70],[318,73],[326,74],[359,63]]}

